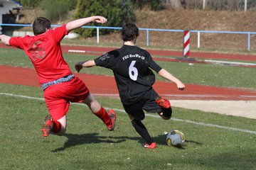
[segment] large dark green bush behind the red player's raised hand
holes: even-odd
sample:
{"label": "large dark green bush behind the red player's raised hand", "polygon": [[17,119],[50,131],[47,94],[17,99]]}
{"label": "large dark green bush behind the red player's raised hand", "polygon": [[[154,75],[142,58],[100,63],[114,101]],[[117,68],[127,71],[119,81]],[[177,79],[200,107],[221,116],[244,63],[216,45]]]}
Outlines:
{"label": "large dark green bush behind the red player's raised hand", "polygon": [[[124,23],[134,23],[136,16],[132,11],[132,3],[129,0],[78,0],[75,19],[89,16],[105,16],[107,23],[104,26],[122,27]],[[102,26],[98,23],[89,23],[87,26]],[[114,30],[100,29],[100,34],[108,34]],[[77,29],[76,33],[83,37],[92,37],[97,33],[96,29]]]}

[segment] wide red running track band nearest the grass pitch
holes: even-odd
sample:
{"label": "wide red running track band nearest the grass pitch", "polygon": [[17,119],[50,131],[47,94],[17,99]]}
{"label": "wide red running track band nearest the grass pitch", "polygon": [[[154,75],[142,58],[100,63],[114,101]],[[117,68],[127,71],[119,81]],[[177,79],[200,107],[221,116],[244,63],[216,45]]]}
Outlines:
{"label": "wide red running track band nearest the grass pitch", "polygon": [[[85,81],[95,96],[119,97],[114,77],[94,74],[76,74]],[[35,69],[0,65],[0,83],[40,86]],[[225,100],[255,101],[256,91],[215,86],[186,84],[185,91],[178,91],[176,84],[156,81],[154,89],[163,97],[176,100]]]}

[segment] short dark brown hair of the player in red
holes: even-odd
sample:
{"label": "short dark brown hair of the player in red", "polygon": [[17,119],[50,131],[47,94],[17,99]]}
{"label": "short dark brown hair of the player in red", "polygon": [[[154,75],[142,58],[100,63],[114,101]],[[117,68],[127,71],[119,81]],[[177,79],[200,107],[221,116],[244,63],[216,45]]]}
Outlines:
{"label": "short dark brown hair of the player in red", "polygon": [[33,22],[33,33],[39,35],[46,32],[46,28],[50,29],[50,20],[44,17],[38,17]]}

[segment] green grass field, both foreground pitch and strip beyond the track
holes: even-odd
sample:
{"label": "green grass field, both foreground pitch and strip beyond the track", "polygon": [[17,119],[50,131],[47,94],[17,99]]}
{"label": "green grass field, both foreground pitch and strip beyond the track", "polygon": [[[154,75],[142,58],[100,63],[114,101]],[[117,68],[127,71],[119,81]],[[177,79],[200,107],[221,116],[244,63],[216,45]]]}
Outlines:
{"label": "green grass field, both foreground pitch and strip beyond the track", "polygon": [[[72,69],[76,62],[94,57],[65,54]],[[158,63],[185,83],[256,89],[253,68]],[[33,67],[21,50],[0,49],[0,64]],[[102,69],[82,72],[102,74]],[[104,69],[104,74],[112,72]],[[150,150],[142,147],[144,141],[118,98],[97,99],[107,110],[117,111],[114,132],[87,106],[72,104],[66,134],[42,137],[41,124],[48,114],[43,91],[0,84],[0,169],[256,169],[256,120],[183,108],[173,108],[173,119],[167,121],[146,114],[143,123],[158,145]],[[186,137],[181,149],[166,145],[164,132],[173,129]]]}

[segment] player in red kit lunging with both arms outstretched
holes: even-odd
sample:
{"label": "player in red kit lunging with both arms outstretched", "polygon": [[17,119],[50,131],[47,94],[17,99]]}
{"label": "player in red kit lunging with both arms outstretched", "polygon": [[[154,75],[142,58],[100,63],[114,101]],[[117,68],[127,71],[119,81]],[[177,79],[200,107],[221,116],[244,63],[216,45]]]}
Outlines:
{"label": "player in red kit lunging with both arms outstretched", "polygon": [[47,18],[38,17],[33,22],[34,36],[11,38],[7,35],[0,35],[1,42],[5,45],[24,50],[36,69],[50,113],[46,116],[41,128],[42,135],[45,137],[50,132],[57,135],[65,133],[66,113],[70,102],[87,104],[92,113],[107,125],[108,130],[114,130],[116,113],[112,109],[109,113],[105,111],[105,108],[90,94],[85,83],[71,72],[61,52],[60,41],[65,35],[90,22],[106,23],[107,19],[102,16],[90,16],[52,29]]}

